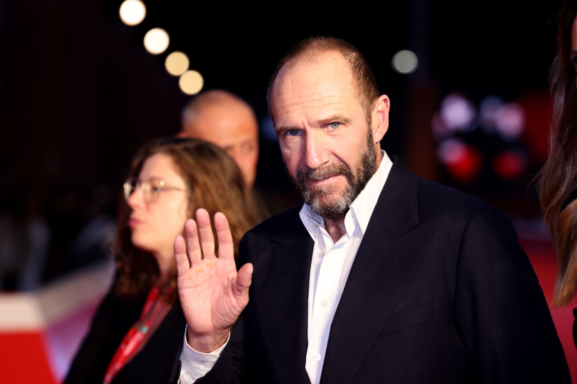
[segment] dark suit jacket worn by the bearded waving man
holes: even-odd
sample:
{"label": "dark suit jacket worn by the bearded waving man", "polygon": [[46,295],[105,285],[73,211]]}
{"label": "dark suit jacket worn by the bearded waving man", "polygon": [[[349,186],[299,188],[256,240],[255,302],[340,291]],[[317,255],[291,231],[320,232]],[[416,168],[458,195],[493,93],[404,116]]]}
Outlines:
{"label": "dark suit jacket worn by the bearded waving man", "polygon": [[[507,215],[392,160],[332,321],[321,383],[570,383]],[[198,383],[309,383],[313,240],[298,212],[243,238],[250,301]]]}

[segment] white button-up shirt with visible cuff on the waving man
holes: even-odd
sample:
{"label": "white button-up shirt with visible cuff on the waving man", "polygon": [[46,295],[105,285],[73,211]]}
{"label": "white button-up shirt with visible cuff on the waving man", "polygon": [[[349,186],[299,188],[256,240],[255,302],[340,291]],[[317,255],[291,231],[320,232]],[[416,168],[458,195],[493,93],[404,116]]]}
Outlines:
{"label": "white button-up shirt with visible cuff on the waving man", "polygon": [[[309,303],[308,303],[308,348],[306,349],[305,369],[312,384],[319,384],[329,331],[344,285],[370,216],[387,181],[392,161],[381,150],[383,159],[379,169],[370,178],[365,188],[351,203],[349,212],[344,216],[346,233],[335,243],[325,229],[324,219],[304,204],[299,216],[310,237],[314,241],[313,257],[310,263]],[[227,339],[228,342],[228,339]],[[224,344],[226,345],[226,343]],[[224,345],[212,353],[194,351],[186,343],[181,352],[181,384],[190,384],[203,377],[216,362]]]}

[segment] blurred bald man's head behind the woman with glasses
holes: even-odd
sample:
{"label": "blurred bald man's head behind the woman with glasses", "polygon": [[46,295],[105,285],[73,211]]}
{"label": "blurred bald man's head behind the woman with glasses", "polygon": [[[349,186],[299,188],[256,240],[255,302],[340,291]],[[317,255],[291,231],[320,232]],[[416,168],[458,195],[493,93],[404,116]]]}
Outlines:
{"label": "blurred bald man's head behind the woman with glasses", "polygon": [[223,90],[199,94],[182,112],[179,137],[211,142],[235,159],[247,187],[256,178],[258,123],[245,101]]}

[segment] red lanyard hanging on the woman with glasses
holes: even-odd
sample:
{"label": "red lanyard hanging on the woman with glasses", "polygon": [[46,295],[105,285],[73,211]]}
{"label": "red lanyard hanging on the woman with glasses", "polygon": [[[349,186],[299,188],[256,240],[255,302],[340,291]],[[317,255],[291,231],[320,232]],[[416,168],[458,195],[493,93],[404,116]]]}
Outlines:
{"label": "red lanyard hanging on the woman with glasses", "polygon": [[[160,296],[160,297],[159,297]],[[114,353],[106,375],[104,375],[104,384],[110,384],[112,379],[140,350],[146,345],[156,328],[162,323],[164,317],[173,306],[171,290],[160,291],[157,287],[153,287],[148,292],[148,297],[144,303],[143,311],[140,318],[130,328],[122,343]]]}

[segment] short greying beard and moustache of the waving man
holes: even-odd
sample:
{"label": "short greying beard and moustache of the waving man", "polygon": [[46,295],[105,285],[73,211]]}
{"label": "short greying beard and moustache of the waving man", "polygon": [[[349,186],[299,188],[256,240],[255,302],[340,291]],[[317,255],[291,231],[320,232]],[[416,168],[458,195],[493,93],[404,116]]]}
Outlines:
{"label": "short greying beard and moustache of the waving man", "polygon": [[[325,168],[309,169],[302,168],[297,173],[297,180],[293,180],[302,199],[310,206],[313,212],[316,212],[325,219],[342,219],[349,211],[349,207],[357,198],[359,193],[365,188],[366,183],[377,170],[377,153],[373,143],[373,132],[369,129],[366,139],[365,151],[357,165],[357,171],[353,175],[350,168],[343,162],[329,165]],[[331,196],[336,193],[336,187],[329,185],[327,187],[315,187],[310,190],[306,187],[307,180],[323,180],[337,174],[342,174],[347,178],[347,185],[340,196],[336,197],[334,202],[324,202],[323,197]]]}

